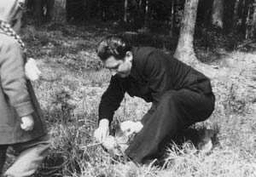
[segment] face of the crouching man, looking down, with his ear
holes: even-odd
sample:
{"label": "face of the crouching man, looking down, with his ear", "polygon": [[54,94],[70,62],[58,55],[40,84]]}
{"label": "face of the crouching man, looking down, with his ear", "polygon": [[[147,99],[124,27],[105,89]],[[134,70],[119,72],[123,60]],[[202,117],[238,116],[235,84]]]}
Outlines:
{"label": "face of the crouching man, looking down, with his ear", "polygon": [[103,64],[111,71],[112,76],[117,74],[119,77],[128,77],[131,71],[131,60],[132,54],[128,51],[123,60],[117,60],[114,56],[110,56],[103,61]]}

